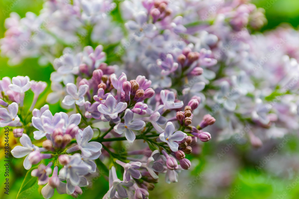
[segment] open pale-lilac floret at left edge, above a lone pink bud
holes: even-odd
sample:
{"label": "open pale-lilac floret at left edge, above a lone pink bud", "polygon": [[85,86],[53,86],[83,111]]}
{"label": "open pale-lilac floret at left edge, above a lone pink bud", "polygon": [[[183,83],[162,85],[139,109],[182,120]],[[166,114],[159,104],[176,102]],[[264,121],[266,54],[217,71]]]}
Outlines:
{"label": "open pale-lilac floret at left edge, above a lone pink bud", "polygon": [[21,126],[20,118],[17,115],[19,110],[18,104],[16,102],[13,102],[8,105],[7,109],[0,108],[0,127]]}

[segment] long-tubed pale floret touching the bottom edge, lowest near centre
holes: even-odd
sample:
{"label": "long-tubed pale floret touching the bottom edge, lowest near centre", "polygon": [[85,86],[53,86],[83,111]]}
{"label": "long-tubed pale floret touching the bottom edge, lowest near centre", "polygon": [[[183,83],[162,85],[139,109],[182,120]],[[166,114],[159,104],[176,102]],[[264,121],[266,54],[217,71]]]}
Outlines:
{"label": "long-tubed pale floret touching the bottom edge, lowest near centre", "polygon": [[120,198],[128,198],[128,193],[127,193],[126,189],[124,188],[124,186],[126,186],[126,187],[133,186],[133,183],[132,182],[123,182],[123,181],[119,180],[117,178],[114,166],[112,166],[111,170],[109,171],[109,181],[110,181],[110,178],[112,181],[112,186],[107,193],[107,198],[108,199],[113,198],[116,194],[116,191]]}

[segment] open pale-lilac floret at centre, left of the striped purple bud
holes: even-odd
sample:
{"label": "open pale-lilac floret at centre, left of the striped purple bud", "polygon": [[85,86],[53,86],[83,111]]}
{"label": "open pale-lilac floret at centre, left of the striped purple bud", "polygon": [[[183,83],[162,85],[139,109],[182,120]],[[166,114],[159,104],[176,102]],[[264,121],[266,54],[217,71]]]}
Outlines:
{"label": "open pale-lilac floret at centre, left of the striped purple bud", "polygon": [[104,115],[109,115],[110,118],[116,119],[118,113],[122,112],[127,107],[127,103],[119,102],[116,104],[116,99],[113,95],[108,95],[106,98],[105,104],[100,104],[97,109],[100,113]]}

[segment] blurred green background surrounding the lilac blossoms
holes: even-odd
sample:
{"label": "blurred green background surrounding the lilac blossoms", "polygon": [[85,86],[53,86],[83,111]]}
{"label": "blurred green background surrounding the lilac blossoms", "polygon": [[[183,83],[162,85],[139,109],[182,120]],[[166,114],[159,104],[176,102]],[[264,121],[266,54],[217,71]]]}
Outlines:
{"label": "blurred green background surrounding the lilac blossoms", "polygon": [[[255,0],[258,7],[266,10],[268,24],[261,30],[274,29],[281,23],[289,23],[297,29],[299,25],[299,1],[298,0]],[[0,38],[3,37],[4,20],[9,16],[3,12],[12,3],[16,5],[9,12],[17,12],[21,17],[31,11],[38,14],[42,8],[42,0],[0,0]],[[299,38],[298,38],[299,39]],[[50,74],[53,71],[51,65],[40,67],[36,59],[29,59],[14,67],[7,65],[7,58],[0,58],[0,77],[16,75],[28,75],[36,81],[46,81],[49,85]],[[51,107],[56,111],[58,105]],[[1,138],[2,139],[2,138]],[[10,136],[10,142],[13,137]],[[251,149],[251,146],[234,145],[225,155],[221,154],[222,149],[230,146],[232,140],[217,143],[213,140],[203,144],[202,153],[199,157],[192,159],[193,171],[182,172],[179,176],[179,183],[166,184],[164,176],[159,178],[156,189],[150,192],[150,198],[185,199],[185,198],[238,198],[238,199],[298,199],[299,198],[299,140],[298,136],[288,135],[288,141],[279,148],[274,157],[268,161],[268,155],[274,148],[283,141],[275,140],[264,143],[261,149]],[[266,148],[266,149],[265,149]],[[1,155],[4,152],[1,151]],[[4,182],[3,158],[0,155],[0,198],[3,198],[2,191]],[[19,191],[25,173],[22,166],[22,159],[13,159],[14,168],[10,167],[10,191],[9,196],[4,198],[13,199]],[[264,163],[263,163],[264,161]],[[262,165],[260,165],[262,163]],[[257,167],[259,166],[259,167]],[[14,172],[12,172],[14,170]],[[27,190],[22,198],[42,198],[39,195],[37,184]],[[94,178],[92,188],[83,189],[79,198],[97,199],[101,198],[108,190],[108,185],[103,177]],[[72,198],[68,195],[54,197]]]}

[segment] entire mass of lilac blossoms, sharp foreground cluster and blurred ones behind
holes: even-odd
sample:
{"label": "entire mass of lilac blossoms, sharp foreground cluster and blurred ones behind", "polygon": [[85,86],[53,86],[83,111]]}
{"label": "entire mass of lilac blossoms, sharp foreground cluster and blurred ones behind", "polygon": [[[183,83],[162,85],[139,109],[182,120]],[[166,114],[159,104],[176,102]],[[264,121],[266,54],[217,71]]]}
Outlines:
{"label": "entire mass of lilac blossoms, sharp foreground cluster and blurred ones behind", "polygon": [[[45,82],[2,78],[0,125],[22,145],[12,155],[26,156],[25,169],[38,164],[31,175],[44,198],[54,189],[76,198],[101,170],[104,198],[144,199],[159,173],[177,182],[192,166],[185,154],[211,134],[245,131],[259,147],[298,130],[298,32],[252,34],[263,11],[246,0],[48,0],[39,16],[11,13],[2,54],[12,65],[51,63],[46,102],[69,110],[34,108]],[[121,141],[128,150],[118,151]]]}

